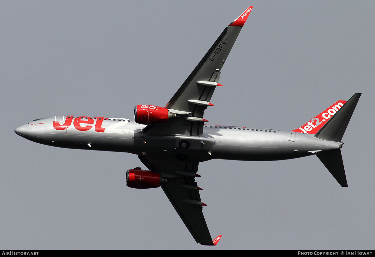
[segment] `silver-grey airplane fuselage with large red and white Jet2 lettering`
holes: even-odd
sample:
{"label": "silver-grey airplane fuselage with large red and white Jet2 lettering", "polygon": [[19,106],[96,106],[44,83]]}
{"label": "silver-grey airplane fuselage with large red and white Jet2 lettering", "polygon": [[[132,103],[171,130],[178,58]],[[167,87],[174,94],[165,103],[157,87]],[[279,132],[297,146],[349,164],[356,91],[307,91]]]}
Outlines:
{"label": "silver-grey airplane fuselage with large red and white Jet2 lettering", "polygon": [[[63,148],[129,152],[149,158],[187,161],[210,159],[270,161],[299,158],[339,149],[342,142],[312,134],[204,125],[203,136],[145,133],[146,125],[124,118],[53,116],[15,129],[28,140]],[[180,143],[188,142],[187,149]]]}

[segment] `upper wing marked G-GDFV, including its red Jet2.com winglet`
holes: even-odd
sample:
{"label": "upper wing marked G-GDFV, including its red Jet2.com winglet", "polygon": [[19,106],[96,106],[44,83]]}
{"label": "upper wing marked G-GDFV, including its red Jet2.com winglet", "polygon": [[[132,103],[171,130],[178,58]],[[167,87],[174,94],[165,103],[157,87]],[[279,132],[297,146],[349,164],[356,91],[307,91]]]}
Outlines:
{"label": "upper wing marked G-GDFV, including its red Jet2.com winglet", "polygon": [[210,104],[220,78],[220,70],[239,35],[253,6],[249,6],[224,29],[185,82],[169,100],[166,108],[177,114],[163,124],[150,125],[145,130],[165,134],[202,136],[203,112]]}

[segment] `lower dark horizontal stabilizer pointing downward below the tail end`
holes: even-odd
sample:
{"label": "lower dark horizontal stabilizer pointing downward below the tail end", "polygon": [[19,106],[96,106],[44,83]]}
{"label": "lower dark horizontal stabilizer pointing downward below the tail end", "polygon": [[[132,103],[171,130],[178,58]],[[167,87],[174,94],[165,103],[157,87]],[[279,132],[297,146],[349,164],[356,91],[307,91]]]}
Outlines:
{"label": "lower dark horizontal stabilizer pointing downward below the tail end", "polygon": [[344,163],[342,162],[341,149],[324,151],[317,154],[317,156],[337,182],[339,182],[342,187],[347,187],[348,182],[345,176]]}

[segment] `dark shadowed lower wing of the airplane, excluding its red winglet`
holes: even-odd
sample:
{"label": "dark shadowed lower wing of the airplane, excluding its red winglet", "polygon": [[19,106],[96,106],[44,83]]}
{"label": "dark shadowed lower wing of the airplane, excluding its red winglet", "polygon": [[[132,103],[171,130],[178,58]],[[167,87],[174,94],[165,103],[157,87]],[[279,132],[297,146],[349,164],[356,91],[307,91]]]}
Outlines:
{"label": "dark shadowed lower wing of the airplane, excluding its red winglet", "polygon": [[195,182],[198,162],[160,161],[140,156],[139,159],[150,170],[168,178],[161,187],[181,220],[201,245],[214,245],[203,216],[199,188]]}

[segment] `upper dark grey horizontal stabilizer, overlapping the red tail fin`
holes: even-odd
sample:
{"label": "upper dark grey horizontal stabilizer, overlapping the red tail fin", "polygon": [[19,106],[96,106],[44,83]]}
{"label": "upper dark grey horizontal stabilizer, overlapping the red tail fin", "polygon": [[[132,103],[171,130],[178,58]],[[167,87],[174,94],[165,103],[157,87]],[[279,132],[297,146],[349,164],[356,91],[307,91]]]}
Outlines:
{"label": "upper dark grey horizontal stabilizer, overlapping the red tail fin", "polygon": [[350,118],[356,109],[362,93],[355,93],[335,115],[315,134],[315,137],[324,140],[341,142]]}

